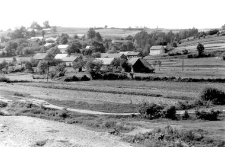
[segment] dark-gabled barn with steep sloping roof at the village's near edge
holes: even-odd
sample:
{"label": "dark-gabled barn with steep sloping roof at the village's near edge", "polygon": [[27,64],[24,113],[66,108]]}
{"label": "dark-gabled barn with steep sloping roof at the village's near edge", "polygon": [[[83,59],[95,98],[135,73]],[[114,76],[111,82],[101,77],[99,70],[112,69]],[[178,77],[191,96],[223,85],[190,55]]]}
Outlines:
{"label": "dark-gabled barn with steep sloping roof at the village's near edge", "polygon": [[133,72],[153,73],[155,70],[145,59],[131,58],[128,63],[131,64]]}

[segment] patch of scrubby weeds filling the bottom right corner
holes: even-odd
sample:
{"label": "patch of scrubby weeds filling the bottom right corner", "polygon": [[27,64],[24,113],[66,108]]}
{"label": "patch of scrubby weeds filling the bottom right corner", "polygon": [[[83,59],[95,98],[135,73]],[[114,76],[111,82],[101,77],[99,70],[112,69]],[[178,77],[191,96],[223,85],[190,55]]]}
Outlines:
{"label": "patch of scrubby weeds filling the bottom right corner", "polygon": [[207,132],[197,130],[176,129],[172,126],[157,128],[154,131],[124,137],[124,140],[139,143],[145,147],[188,147],[188,146],[217,146],[222,147],[225,141],[215,140],[204,136]]}

